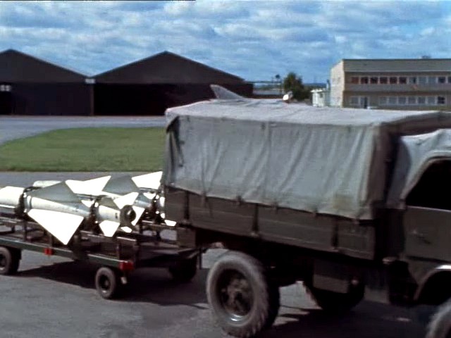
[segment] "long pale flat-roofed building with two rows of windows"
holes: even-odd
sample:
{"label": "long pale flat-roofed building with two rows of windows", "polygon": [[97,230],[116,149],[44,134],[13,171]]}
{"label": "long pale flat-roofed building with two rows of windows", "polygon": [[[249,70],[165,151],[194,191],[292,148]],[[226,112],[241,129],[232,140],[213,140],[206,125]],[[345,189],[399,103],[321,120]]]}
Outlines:
{"label": "long pale flat-roofed building with two rows of windows", "polygon": [[330,106],[450,110],[451,58],[343,59],[330,69]]}

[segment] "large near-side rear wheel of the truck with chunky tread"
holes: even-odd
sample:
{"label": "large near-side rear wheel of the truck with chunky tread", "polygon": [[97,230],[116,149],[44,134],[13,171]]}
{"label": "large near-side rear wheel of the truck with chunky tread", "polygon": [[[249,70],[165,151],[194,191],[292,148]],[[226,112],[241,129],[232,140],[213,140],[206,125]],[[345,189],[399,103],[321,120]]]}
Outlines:
{"label": "large near-side rear wheel of the truck with chunky tread", "polygon": [[264,265],[236,251],[214,263],[206,296],[218,324],[235,337],[254,337],[271,327],[280,307],[278,286],[268,279]]}

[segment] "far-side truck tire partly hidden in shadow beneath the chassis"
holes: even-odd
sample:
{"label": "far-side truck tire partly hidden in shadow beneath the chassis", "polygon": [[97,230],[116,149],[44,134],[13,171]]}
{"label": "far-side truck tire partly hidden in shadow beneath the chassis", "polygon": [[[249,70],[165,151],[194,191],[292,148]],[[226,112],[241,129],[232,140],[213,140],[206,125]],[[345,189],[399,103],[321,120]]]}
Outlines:
{"label": "far-side truck tire partly hidden in shadow beneath the chassis", "polygon": [[316,304],[324,311],[330,313],[350,311],[362,301],[365,293],[364,284],[358,284],[356,286],[350,285],[350,289],[346,294],[308,286],[307,289],[316,301]]}

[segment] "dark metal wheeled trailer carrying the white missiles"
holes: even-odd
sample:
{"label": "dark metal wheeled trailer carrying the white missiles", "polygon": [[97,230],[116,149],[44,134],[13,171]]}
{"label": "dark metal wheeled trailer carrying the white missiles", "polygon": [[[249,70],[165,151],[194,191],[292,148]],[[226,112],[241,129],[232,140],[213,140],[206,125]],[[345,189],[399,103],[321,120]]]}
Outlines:
{"label": "dark metal wheeled trailer carrying the white missiles", "polygon": [[177,232],[178,227],[142,220],[138,232],[115,237],[78,230],[68,245],[63,245],[33,221],[0,215],[0,275],[15,274],[21,252],[29,250],[99,265],[95,287],[105,299],[119,296],[137,268],[168,268],[174,280],[191,280],[200,263],[199,249],[163,239],[163,230]]}

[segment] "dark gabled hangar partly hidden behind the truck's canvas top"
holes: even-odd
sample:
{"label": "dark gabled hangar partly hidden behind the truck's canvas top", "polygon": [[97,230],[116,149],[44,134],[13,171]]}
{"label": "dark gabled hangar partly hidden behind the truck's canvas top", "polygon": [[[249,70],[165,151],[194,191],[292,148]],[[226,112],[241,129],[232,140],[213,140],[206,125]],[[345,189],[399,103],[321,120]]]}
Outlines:
{"label": "dark gabled hangar partly hidden behind the truck's canvas top", "polygon": [[252,96],[252,84],[163,51],[94,76],[95,115],[163,115],[168,107],[214,97],[210,84]]}

